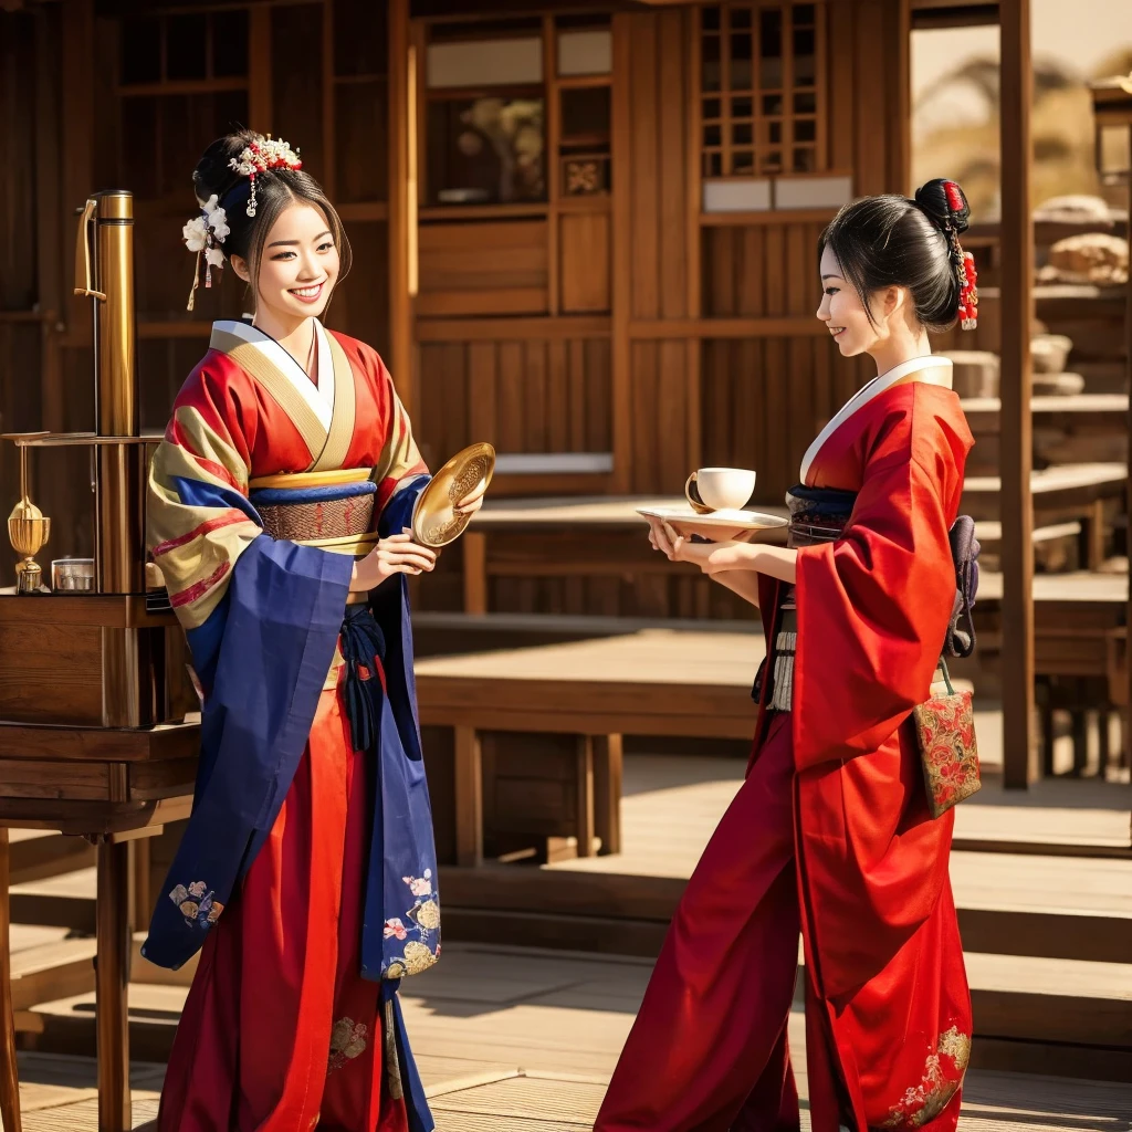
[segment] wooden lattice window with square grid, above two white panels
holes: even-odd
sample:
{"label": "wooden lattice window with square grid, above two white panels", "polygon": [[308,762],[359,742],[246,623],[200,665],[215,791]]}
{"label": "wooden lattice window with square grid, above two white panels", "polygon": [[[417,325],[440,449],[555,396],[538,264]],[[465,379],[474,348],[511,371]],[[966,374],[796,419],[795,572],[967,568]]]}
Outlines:
{"label": "wooden lattice window with square grid, above two white panels", "polygon": [[824,170],[823,16],[782,0],[702,9],[705,178]]}

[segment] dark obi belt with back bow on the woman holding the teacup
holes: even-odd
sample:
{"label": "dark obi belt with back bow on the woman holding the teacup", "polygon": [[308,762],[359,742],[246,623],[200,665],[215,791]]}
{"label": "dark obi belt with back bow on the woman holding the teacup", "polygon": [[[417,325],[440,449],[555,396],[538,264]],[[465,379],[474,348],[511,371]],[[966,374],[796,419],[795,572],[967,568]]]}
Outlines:
{"label": "dark obi belt with back bow on the woman holding the teacup", "polygon": [[[856,491],[835,488],[795,487],[787,492],[790,511],[787,546],[813,547],[837,542],[844,533],[857,501]],[[952,603],[944,657],[969,657],[975,651],[975,624],[971,610],[979,585],[979,543],[975,523],[960,515],[949,533],[951,557],[955,566],[955,598]],[[783,586],[778,608],[778,632],[774,636],[774,668],[770,674],[767,706],[789,711],[794,700],[794,658],[798,651],[798,607],[795,588]],[[756,680],[756,700],[761,700],[761,679]]]}

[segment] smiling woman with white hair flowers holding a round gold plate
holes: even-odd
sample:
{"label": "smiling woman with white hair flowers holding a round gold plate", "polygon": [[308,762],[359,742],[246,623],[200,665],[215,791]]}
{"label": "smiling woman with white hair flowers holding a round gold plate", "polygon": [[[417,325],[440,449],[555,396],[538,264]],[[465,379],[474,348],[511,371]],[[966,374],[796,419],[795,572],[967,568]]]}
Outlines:
{"label": "smiling woman with white hair flowers holding a round gold plate", "polygon": [[[381,359],[319,321],[350,265],[298,151],[245,130],[194,173],[213,325],[149,474],[148,542],[203,698],[192,816],[143,954],[200,950],[161,1132],[431,1132],[396,995],[440,953],[406,575],[429,482]],[[483,489],[455,504],[475,512]]]}

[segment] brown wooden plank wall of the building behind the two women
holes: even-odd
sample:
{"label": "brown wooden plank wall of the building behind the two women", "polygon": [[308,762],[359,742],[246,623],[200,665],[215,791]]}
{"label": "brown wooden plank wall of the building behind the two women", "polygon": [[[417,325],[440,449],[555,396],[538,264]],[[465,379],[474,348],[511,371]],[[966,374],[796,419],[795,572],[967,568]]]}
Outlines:
{"label": "brown wooden plank wall of the building behind the two women", "polygon": [[[824,34],[815,172],[851,177],[855,194],[907,188],[903,8],[901,0],[816,3]],[[534,18],[547,43],[541,201],[430,204],[422,131],[429,92],[424,67],[417,67],[409,135],[423,170],[420,285],[405,319],[411,365],[395,377],[432,464],[473,439],[516,457],[588,457],[588,471],[505,473],[497,481],[500,494],[564,495],[677,491],[701,463],[741,463],[758,470],[758,498],[775,503],[816,428],[867,376],[865,363],[839,357],[814,318],[816,240],[833,209],[703,211],[704,11],[599,14],[612,35],[606,77],[559,76],[559,17]],[[208,323],[246,307],[242,288],[225,278],[198,292],[188,315],[191,264],[180,245],[191,163],[234,122],[302,146],[354,249],[328,321],[389,352],[391,305],[405,309],[391,294],[389,261],[404,255],[408,233],[389,224],[389,171],[404,168],[389,122],[404,92],[391,87],[386,5],[235,5],[223,17],[203,17],[204,26],[223,24],[229,34],[233,20],[243,22],[246,34],[232,37],[222,68],[214,60],[189,78],[160,65],[142,74],[137,59],[147,57],[137,52],[138,37],[174,42],[182,18],[180,9],[104,0],[0,16],[0,130],[5,153],[20,155],[0,172],[10,233],[0,359],[9,375],[42,375],[37,393],[11,376],[3,381],[5,428],[91,426],[89,309],[70,295],[71,209],[109,185],[136,194],[143,419],[163,426]],[[408,26],[418,63],[432,27]],[[402,83],[400,68],[394,78]],[[602,84],[610,181],[574,197],[560,175],[568,151],[559,153],[559,96]],[[33,201],[31,223],[20,200]],[[14,500],[12,454],[0,460]],[[85,477],[74,458],[41,477],[58,484],[50,499],[53,551],[89,549],[87,501],[76,491]],[[565,592],[516,601],[565,608],[573,603]],[[627,609],[636,599],[618,589],[594,600]],[[672,611],[702,603],[672,593],[649,601]]]}

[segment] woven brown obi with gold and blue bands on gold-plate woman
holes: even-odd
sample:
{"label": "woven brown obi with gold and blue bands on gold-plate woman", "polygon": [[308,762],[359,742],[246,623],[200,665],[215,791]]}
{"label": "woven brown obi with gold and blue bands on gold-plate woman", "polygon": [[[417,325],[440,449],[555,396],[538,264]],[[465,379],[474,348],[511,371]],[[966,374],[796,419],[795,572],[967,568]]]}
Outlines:
{"label": "woven brown obi with gold and blue bands on gold-plate woman", "polygon": [[[377,484],[370,479],[371,474],[370,468],[344,468],[328,472],[263,475],[248,484],[248,499],[264,524],[264,532],[273,539],[288,539],[308,547],[321,547],[333,554],[365,558],[378,541],[377,532],[370,530],[377,497]],[[351,593],[348,602],[358,606],[365,604],[366,600],[365,593]],[[361,610],[350,611],[351,615],[354,612]],[[350,617],[346,619],[349,621]],[[369,619],[372,620],[372,617]],[[346,632],[348,628],[344,626],[341,640],[353,641],[357,634]],[[376,623],[374,629],[380,633]],[[324,691],[337,687],[338,674],[348,661],[342,654],[341,640],[334,651]],[[361,644],[360,641],[353,643]],[[363,667],[367,663],[363,660],[358,662]]]}

